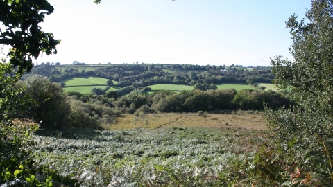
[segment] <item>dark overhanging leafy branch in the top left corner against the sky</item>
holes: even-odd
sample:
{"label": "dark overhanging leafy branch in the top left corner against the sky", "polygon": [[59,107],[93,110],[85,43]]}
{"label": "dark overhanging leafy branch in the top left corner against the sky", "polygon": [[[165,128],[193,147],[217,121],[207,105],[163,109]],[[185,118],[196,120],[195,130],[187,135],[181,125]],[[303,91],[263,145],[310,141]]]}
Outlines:
{"label": "dark overhanging leafy branch in the top left corner against the sky", "polygon": [[5,26],[0,44],[12,46],[8,56],[13,66],[19,66],[19,73],[30,71],[31,58],[37,58],[41,52],[57,53],[60,40],[53,39],[52,33],[44,33],[38,25],[52,12],[53,6],[46,0],[0,1],[0,21]]}

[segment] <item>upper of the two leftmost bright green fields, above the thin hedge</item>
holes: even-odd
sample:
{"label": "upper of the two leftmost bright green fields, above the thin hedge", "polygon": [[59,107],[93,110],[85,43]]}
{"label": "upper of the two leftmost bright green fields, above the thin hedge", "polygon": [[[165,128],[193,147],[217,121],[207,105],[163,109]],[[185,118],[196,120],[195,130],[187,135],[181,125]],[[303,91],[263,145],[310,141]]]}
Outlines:
{"label": "upper of the two leftmost bright green fields, above the thin hedge", "polygon": [[[98,77],[82,77],[82,78],[69,78],[62,80],[61,82],[65,82],[67,87],[71,86],[80,86],[80,85],[92,85],[92,84],[103,84],[107,85],[106,82],[108,79],[106,78],[98,78]],[[117,84],[117,81],[114,81],[114,84]]]}

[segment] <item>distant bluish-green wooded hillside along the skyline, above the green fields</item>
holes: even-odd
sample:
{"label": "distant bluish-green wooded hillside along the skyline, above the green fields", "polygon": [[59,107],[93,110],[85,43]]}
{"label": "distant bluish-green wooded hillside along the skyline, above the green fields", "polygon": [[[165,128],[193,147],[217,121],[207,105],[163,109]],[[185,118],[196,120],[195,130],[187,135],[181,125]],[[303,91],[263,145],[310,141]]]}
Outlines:
{"label": "distant bluish-green wooded hillside along the skyline, above the green fields", "polygon": [[[177,69],[177,71],[163,71],[163,69]],[[73,67],[58,71],[56,67],[40,65],[33,68],[32,74],[46,75],[51,82],[60,82],[67,78],[98,76],[119,81],[118,87],[133,86],[135,88],[153,84],[190,84],[192,86],[201,84],[205,89],[206,85],[209,87],[210,84],[246,83],[248,80],[271,83],[274,78],[270,69],[257,68],[248,71],[242,66],[234,65],[225,67],[187,64],[114,64],[94,71],[78,71]]]}

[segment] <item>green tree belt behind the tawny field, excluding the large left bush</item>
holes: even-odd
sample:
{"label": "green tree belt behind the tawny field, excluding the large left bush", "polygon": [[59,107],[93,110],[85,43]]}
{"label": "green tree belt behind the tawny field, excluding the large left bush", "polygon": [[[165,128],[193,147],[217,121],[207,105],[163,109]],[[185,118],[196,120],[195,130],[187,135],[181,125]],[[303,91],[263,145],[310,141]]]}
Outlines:
{"label": "green tree belt behind the tawny field, excluding the large left bush", "polygon": [[255,91],[244,89],[216,89],[181,91],[154,91],[146,94],[144,89],[135,89],[128,96],[119,98],[117,91],[110,91],[104,96],[69,92],[84,103],[100,103],[111,107],[115,113],[133,114],[137,110],[144,112],[198,112],[219,110],[262,110],[264,104],[276,109],[289,108],[293,105],[289,98],[275,91]]}

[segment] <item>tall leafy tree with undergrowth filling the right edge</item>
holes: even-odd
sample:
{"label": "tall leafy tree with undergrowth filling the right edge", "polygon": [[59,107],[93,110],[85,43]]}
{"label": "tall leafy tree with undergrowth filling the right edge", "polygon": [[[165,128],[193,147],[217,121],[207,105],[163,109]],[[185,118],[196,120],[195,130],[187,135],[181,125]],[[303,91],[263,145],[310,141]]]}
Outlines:
{"label": "tall leafy tree with undergrowth filling the right edge", "polygon": [[287,21],[294,60],[271,60],[276,82],[298,102],[293,109],[266,109],[274,141],[262,151],[271,166],[259,170],[271,169],[268,182],[278,186],[333,185],[333,1],[314,0],[305,15],[307,24],[296,15]]}

